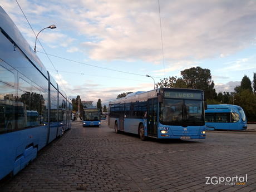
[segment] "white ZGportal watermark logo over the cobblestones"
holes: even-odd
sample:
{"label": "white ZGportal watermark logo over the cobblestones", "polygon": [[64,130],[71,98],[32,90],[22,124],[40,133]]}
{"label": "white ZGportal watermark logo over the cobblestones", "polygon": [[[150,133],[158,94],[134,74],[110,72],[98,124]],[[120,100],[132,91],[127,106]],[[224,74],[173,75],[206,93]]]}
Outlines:
{"label": "white ZGportal watermark logo over the cobblestones", "polygon": [[245,176],[227,176],[227,177],[223,177],[223,176],[206,176],[205,177],[207,179],[206,181],[206,185],[217,185],[217,184],[221,184],[224,183],[225,185],[245,185],[245,182],[247,182],[247,174]]}

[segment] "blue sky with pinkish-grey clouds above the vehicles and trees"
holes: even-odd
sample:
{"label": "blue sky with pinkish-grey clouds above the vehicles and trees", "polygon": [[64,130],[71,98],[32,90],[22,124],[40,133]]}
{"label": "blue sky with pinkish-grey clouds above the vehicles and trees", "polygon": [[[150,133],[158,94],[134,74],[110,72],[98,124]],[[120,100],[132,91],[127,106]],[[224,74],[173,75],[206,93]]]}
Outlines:
{"label": "blue sky with pinkish-grey clouds above the vehicles and trees", "polygon": [[[207,68],[216,92],[256,72],[256,1],[1,0],[68,97],[102,106],[123,92]],[[26,17],[24,17],[24,15]],[[149,75],[151,77],[146,77]]]}

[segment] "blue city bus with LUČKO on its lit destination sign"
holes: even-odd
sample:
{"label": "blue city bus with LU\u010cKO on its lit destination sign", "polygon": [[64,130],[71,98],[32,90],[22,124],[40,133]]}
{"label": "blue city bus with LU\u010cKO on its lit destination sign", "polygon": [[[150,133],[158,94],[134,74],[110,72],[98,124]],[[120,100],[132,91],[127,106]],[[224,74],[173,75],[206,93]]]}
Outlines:
{"label": "blue city bus with LU\u010cKO on its lit destination sign", "polygon": [[109,102],[108,126],[116,133],[157,139],[205,139],[204,92],[157,88]]}

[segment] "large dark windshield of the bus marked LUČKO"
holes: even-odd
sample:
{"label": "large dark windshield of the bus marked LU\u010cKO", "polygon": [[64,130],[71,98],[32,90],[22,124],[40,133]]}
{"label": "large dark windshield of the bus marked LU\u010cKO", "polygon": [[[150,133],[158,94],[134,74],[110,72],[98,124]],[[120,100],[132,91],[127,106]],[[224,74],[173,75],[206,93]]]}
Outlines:
{"label": "large dark windshield of the bus marked LU\u010cKO", "polygon": [[200,100],[163,99],[159,121],[163,125],[202,126],[203,102]]}

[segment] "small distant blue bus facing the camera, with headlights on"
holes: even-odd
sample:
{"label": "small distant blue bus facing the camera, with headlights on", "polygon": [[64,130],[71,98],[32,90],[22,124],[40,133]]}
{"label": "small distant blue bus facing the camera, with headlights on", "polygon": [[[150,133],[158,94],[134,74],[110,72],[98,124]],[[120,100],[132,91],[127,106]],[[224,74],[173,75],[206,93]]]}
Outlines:
{"label": "small distant blue bus facing the camera, with headlights on", "polygon": [[83,127],[101,125],[101,109],[99,108],[85,108],[83,109]]}

